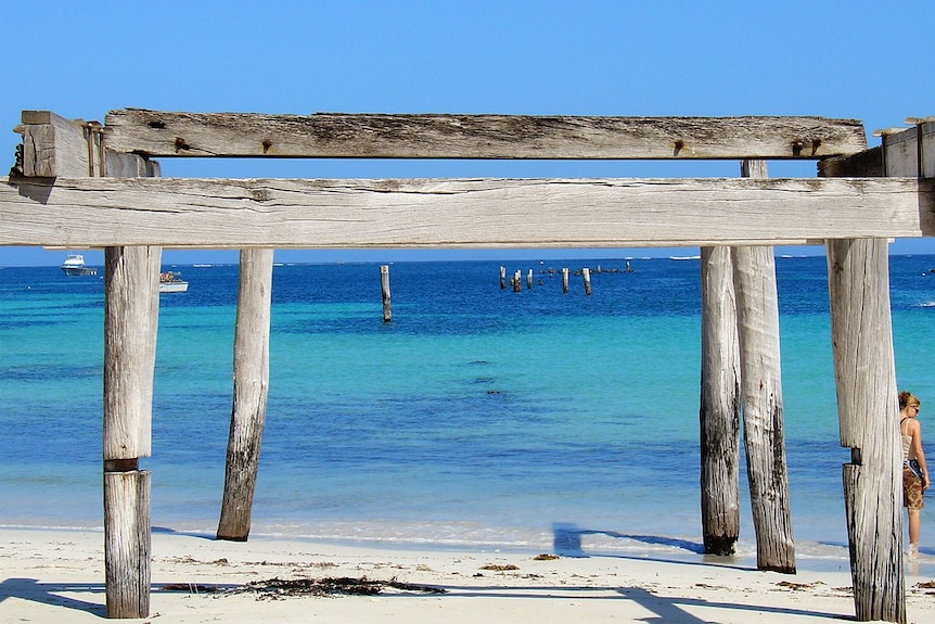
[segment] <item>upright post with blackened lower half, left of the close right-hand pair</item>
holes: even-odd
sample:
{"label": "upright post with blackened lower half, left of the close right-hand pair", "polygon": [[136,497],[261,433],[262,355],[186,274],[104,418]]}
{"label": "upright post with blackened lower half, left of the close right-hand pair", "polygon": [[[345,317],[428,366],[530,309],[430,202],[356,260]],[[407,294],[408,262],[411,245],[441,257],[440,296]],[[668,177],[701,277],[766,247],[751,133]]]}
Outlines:
{"label": "upright post with blackened lower half, left of the close right-hand pair", "polygon": [[740,353],[730,247],[702,247],[701,509],[705,553],[740,536]]}

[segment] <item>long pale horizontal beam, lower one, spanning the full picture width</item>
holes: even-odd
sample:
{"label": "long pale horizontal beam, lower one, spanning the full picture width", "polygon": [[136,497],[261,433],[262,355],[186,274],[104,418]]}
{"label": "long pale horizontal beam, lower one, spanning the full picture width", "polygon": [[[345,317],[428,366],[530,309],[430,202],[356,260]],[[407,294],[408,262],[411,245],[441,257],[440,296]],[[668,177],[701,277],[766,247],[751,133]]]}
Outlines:
{"label": "long pale horizontal beam, lower one, spanning the full picture width", "polygon": [[0,178],[0,245],[644,247],[935,234],[935,180]]}

